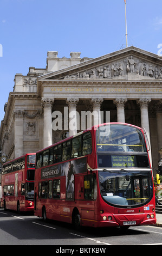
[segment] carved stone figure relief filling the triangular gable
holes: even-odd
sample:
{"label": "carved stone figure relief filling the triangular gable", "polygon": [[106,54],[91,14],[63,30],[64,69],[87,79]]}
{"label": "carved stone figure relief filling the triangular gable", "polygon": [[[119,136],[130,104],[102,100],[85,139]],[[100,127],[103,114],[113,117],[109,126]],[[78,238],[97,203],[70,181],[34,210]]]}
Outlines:
{"label": "carved stone figure relief filling the triangular gable", "polygon": [[133,58],[133,56],[130,56],[106,65],[77,72],[74,75],[64,77],[64,79],[71,80],[83,78],[84,80],[104,80],[105,78],[126,78],[126,76],[130,75],[138,75],[141,79],[162,79],[162,66],[153,65],[149,62],[144,62],[142,59]]}

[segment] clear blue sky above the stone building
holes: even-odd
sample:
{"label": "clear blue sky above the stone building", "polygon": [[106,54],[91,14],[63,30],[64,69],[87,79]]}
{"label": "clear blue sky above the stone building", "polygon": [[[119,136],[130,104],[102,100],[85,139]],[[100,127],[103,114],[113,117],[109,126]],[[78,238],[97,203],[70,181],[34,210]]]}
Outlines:
{"label": "clear blue sky above the stone building", "polygon": [[[128,46],[158,54],[162,1],[127,0],[126,9]],[[125,34],[124,0],[0,0],[0,120],[15,74],[46,68],[47,51],[95,58],[126,47]]]}

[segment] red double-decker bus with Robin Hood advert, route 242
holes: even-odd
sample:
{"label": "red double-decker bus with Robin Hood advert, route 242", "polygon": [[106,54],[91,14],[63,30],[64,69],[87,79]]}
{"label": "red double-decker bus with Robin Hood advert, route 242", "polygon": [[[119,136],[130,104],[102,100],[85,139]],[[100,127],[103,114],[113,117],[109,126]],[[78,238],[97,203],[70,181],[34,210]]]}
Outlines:
{"label": "red double-decker bus with Robin Hood advert, route 242", "polygon": [[35,215],[91,227],[156,223],[145,131],[107,123],[36,153]]}

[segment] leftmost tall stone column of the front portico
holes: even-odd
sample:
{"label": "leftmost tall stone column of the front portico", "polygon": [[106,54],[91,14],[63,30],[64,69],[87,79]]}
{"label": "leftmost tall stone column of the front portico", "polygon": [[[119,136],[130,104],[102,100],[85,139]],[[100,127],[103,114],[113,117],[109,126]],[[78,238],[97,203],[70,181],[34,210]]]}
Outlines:
{"label": "leftmost tall stone column of the front portico", "polygon": [[51,107],[54,103],[54,98],[42,97],[42,103],[44,107],[43,148],[47,148],[53,144]]}

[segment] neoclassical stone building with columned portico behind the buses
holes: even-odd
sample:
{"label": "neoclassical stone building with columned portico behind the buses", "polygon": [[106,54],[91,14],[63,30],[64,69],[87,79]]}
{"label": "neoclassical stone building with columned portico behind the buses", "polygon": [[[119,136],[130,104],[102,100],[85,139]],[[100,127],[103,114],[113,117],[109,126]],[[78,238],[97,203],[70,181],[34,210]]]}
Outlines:
{"label": "neoclassical stone building with columned portico behind the buses", "polygon": [[[68,132],[79,132],[81,122],[77,131],[69,131],[64,119],[71,111],[81,115],[95,110],[109,111],[110,121],[145,127],[153,167],[158,168],[162,157],[162,58],[133,46],[98,58],[80,58],[80,52],[58,58],[57,52],[48,52],[46,69],[30,67],[27,76],[15,75],[14,91],[4,110],[0,147],[8,159],[45,148]],[[52,129],[55,111],[63,115],[62,130]]]}

